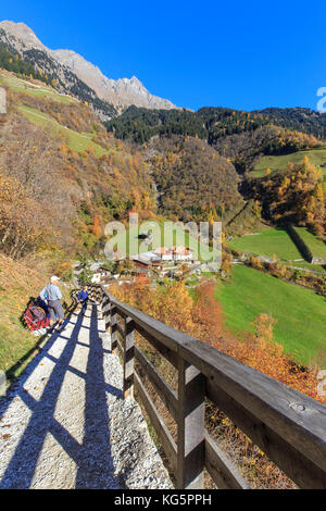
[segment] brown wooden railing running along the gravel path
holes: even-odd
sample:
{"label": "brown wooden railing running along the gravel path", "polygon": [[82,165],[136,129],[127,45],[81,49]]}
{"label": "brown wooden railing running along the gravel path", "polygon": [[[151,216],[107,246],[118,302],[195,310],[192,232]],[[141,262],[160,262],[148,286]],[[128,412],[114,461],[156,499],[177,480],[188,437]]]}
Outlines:
{"label": "brown wooden railing running along the gravel path", "polygon": [[[324,404],[120,302],[101,286],[92,285],[91,296],[101,304],[112,352],[118,350],[123,358],[124,397],[133,396],[136,388],[178,488],[202,488],[204,468],[218,488],[249,488],[205,431],[205,398],[299,487],[326,488]],[[176,367],[177,392],[135,345],[135,332]],[[135,360],[176,421],[177,443],[135,370]]]}

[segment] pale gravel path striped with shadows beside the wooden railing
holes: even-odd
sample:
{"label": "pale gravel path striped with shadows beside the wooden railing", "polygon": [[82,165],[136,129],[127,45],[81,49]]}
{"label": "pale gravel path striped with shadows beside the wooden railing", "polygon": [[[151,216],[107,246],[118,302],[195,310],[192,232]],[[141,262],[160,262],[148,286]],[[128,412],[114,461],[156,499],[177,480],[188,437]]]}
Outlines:
{"label": "pale gravel path striped with shadows beside the wooden railing", "polygon": [[97,307],[73,313],[0,399],[0,488],[172,488]]}

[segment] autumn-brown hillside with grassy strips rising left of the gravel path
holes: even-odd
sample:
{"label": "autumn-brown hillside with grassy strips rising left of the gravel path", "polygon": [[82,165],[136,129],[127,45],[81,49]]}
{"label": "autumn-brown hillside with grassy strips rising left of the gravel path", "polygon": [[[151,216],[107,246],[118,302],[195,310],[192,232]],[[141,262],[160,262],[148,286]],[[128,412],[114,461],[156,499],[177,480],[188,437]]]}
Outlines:
{"label": "autumn-brown hillside with grassy strips rising left of the gravel path", "polygon": [[14,378],[38,349],[21,322],[29,298],[51,274],[70,279],[73,260],[98,257],[106,222],[133,207],[154,216],[155,201],[142,157],[89,107],[4,71],[0,85],[0,369]]}

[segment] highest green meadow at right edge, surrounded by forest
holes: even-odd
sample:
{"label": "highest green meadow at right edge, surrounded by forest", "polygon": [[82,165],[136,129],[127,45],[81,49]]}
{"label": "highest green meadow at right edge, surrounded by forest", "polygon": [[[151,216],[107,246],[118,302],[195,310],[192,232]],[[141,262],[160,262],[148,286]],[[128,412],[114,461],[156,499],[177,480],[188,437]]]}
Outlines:
{"label": "highest green meadow at right edge, surrounded by forest", "polygon": [[279,157],[263,157],[260,159],[254,170],[250,175],[254,177],[262,177],[265,175],[266,170],[284,171],[287,169],[289,162],[301,163],[303,158],[308,157],[309,161],[323,171],[324,179],[326,178],[326,149],[312,149],[309,151],[298,151],[290,154],[283,154]]}

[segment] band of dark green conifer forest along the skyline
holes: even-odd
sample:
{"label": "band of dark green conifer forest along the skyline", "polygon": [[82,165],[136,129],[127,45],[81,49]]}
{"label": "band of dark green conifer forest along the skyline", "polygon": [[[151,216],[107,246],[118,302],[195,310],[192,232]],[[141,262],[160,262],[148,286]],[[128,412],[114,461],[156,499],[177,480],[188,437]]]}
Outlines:
{"label": "band of dark green conifer forest along the skyline", "polygon": [[254,132],[266,125],[280,126],[292,132],[325,138],[326,114],[309,109],[267,109],[244,112],[226,108],[206,107],[188,110],[151,111],[129,107],[117,117],[105,123],[117,138],[148,141],[153,135],[191,135],[205,138],[214,145],[229,135]]}

